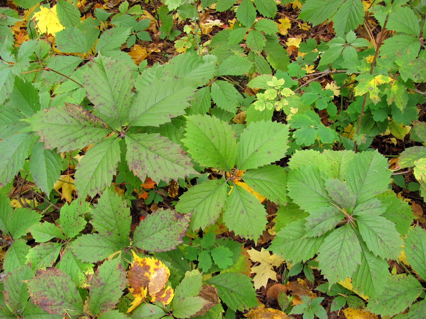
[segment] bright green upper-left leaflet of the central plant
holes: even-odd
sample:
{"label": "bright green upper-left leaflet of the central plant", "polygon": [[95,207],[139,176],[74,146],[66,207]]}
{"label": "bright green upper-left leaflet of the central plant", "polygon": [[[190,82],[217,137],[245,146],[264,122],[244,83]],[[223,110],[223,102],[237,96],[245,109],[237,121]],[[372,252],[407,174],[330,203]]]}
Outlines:
{"label": "bright green upper-left leaflet of the central plant", "polygon": [[236,135],[229,124],[208,115],[187,117],[182,140],[200,165],[230,171],[237,156]]}

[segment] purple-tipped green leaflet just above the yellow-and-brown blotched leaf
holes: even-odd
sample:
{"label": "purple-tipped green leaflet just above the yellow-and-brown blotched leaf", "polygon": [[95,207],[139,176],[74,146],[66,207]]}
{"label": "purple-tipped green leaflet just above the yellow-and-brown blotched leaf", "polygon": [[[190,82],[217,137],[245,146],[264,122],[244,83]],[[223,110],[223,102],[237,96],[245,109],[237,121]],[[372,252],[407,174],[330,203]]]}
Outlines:
{"label": "purple-tipped green leaflet just above the yellow-and-brown blotched leaf", "polygon": [[189,219],[190,214],[158,209],[138,225],[133,245],[147,251],[170,251],[183,242]]}

